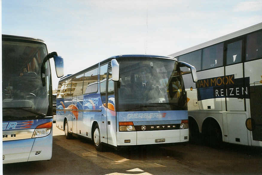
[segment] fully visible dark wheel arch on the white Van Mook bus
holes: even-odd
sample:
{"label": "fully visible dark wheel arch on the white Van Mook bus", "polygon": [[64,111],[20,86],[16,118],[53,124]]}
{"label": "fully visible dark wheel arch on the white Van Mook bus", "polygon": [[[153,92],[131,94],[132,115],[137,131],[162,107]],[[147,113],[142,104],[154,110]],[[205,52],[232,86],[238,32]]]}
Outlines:
{"label": "fully visible dark wheel arch on the white Van Mook bus", "polygon": [[219,147],[223,142],[222,130],[216,119],[207,117],[202,124],[202,136],[206,145]]}

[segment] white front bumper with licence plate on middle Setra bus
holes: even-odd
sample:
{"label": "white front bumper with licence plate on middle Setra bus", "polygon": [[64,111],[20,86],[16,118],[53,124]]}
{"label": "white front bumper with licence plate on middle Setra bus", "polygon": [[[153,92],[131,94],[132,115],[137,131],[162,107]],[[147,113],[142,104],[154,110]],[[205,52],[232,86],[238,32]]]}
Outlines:
{"label": "white front bumper with licence plate on middle Setra bus", "polygon": [[[116,132],[117,145],[148,145],[188,142],[188,129]],[[164,139],[164,141],[163,141]],[[126,143],[125,143],[126,140]],[[130,140],[130,143],[128,143]],[[159,142],[160,141],[160,142]]]}

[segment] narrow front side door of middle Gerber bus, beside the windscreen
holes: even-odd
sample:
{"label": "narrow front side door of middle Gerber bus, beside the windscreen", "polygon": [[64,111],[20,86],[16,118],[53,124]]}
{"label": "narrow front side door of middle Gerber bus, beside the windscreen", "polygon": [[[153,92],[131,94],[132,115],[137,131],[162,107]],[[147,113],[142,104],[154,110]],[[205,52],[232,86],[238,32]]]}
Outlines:
{"label": "narrow front side door of middle Gerber bus, beside the windscreen", "polygon": [[110,145],[117,146],[116,143],[116,112],[115,112],[115,90],[112,80],[112,71],[108,73],[107,79],[107,142]]}

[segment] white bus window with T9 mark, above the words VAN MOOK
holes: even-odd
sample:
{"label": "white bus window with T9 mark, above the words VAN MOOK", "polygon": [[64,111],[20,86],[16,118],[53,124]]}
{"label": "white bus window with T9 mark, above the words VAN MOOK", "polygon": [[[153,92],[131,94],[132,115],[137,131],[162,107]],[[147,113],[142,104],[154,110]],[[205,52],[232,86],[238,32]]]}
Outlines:
{"label": "white bus window with T9 mark, above the words VAN MOOK", "polygon": [[202,70],[223,65],[223,47],[220,43],[203,49]]}

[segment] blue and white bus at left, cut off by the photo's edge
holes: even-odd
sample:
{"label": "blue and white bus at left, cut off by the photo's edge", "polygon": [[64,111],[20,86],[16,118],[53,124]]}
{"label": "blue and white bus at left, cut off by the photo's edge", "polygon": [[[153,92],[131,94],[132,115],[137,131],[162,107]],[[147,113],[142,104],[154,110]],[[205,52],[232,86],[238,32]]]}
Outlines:
{"label": "blue and white bus at left, cut off by the photo's edge", "polygon": [[63,59],[43,40],[2,35],[3,163],[52,156],[52,81],[49,59],[63,76]]}

